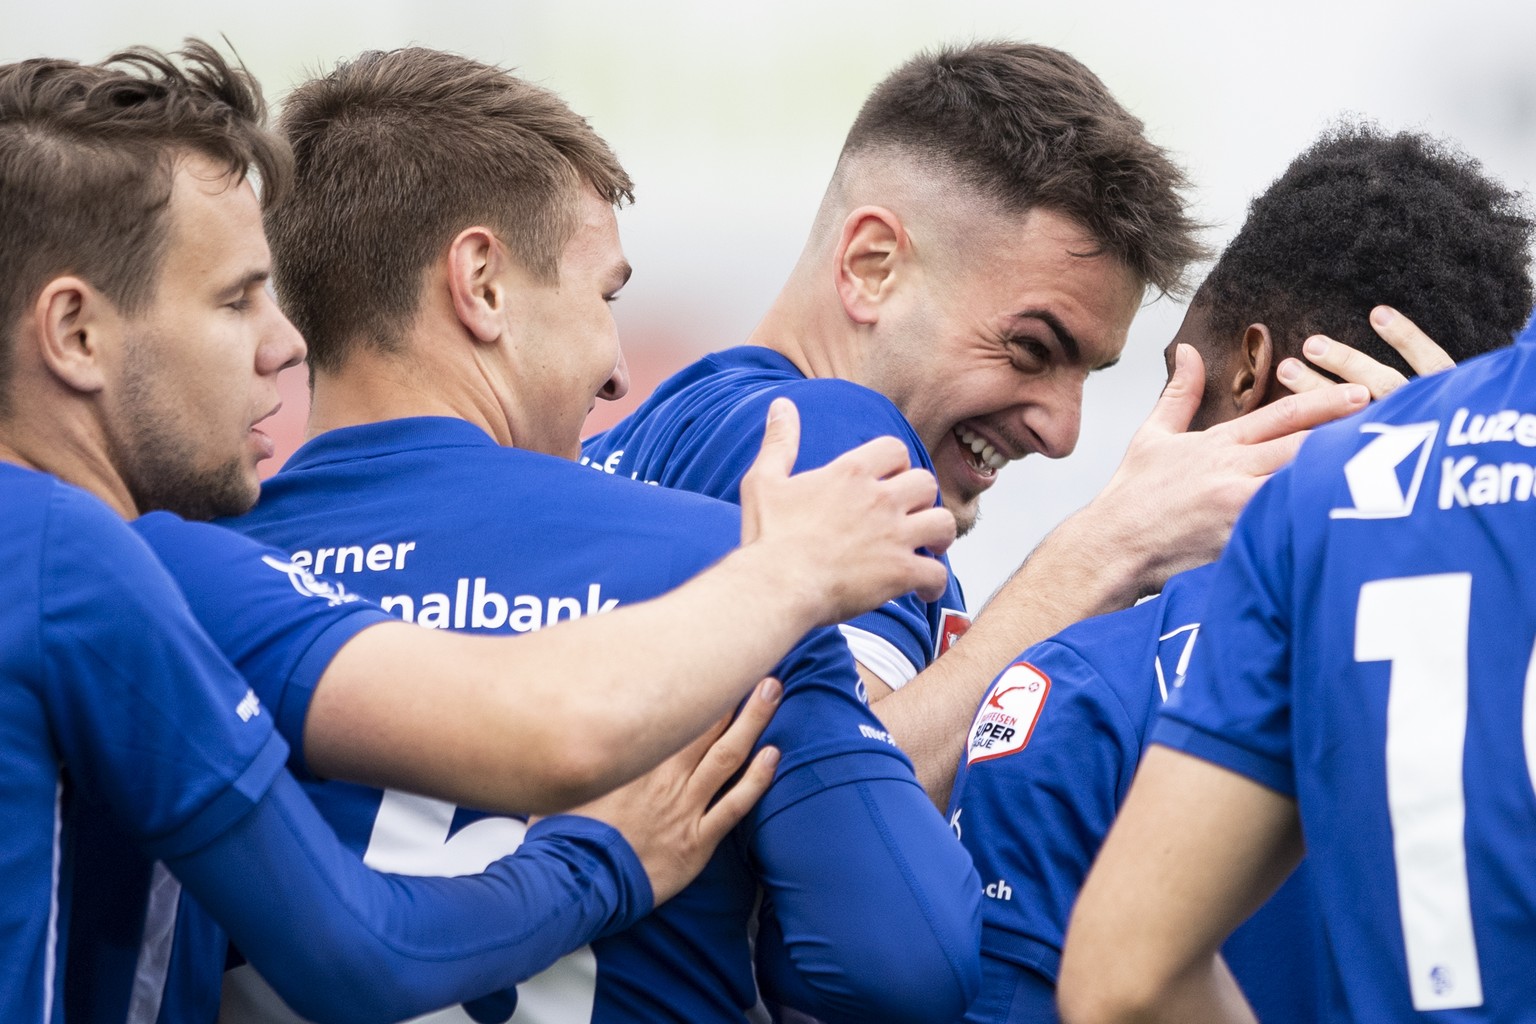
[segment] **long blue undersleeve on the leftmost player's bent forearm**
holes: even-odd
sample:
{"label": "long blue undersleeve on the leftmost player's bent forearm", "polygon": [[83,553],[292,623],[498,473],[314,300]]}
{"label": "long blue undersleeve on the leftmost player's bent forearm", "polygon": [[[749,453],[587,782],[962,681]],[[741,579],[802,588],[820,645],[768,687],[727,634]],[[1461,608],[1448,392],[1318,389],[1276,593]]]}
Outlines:
{"label": "long blue undersleeve on the leftmost player's bent forearm", "polygon": [[286,774],[237,826],[167,866],[321,1024],[398,1021],[510,989],[651,909],[634,852],[602,823],[545,818],[479,875],[382,875]]}

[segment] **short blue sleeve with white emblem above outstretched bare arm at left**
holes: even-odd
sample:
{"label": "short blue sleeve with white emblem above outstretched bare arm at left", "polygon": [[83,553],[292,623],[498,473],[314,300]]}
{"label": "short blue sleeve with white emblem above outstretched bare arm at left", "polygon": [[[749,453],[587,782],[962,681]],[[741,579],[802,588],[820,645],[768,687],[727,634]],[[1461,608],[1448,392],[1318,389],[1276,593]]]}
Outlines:
{"label": "short blue sleeve with white emblem above outstretched bare arm at left", "polygon": [[151,513],[134,522],[224,657],[276,715],[304,771],[304,717],[326,668],[362,629],[393,617],[289,557],[209,524]]}

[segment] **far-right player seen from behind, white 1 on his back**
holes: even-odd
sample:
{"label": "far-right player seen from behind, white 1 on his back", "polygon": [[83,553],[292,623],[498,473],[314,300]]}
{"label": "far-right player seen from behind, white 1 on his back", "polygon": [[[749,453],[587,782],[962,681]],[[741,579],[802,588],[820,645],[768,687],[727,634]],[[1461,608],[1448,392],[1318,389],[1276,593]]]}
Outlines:
{"label": "far-right player seen from behind, white 1 on his back", "polygon": [[[1484,247],[1528,236],[1505,207],[1424,239],[1473,273],[1415,319],[1502,342],[1531,292]],[[1244,511],[1074,912],[1063,1018],[1253,1019],[1217,947],[1306,852],[1327,1019],[1530,1019],[1533,341],[1318,431]]]}

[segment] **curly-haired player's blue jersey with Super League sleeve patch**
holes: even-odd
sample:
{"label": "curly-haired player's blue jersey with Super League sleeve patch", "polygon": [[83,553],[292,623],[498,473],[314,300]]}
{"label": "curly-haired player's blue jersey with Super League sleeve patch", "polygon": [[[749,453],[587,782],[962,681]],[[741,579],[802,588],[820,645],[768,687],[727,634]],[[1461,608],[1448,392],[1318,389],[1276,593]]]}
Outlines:
{"label": "curly-haired player's blue jersey with Super League sleeve patch", "polygon": [[[1158,708],[1197,660],[1213,567],[1135,608],[1086,619],[989,688],[949,801],[982,877],[982,996],[968,1021],[1055,1021],[1068,918],[1130,788]],[[1261,1021],[1318,1019],[1306,866],[1223,953]]]}

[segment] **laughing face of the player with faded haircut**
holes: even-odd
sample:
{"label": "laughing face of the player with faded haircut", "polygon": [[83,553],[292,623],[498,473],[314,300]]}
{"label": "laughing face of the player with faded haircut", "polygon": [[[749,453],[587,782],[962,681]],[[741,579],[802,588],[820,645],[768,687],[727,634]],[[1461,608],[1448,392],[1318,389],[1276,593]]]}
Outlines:
{"label": "laughing face of the player with faded haircut", "polygon": [[[1083,382],[1120,358],[1143,286],[1069,218],[1032,210],[943,253],[877,385],[934,461],[962,533],[1001,467],[1071,454]],[[931,258],[932,261],[932,258]]]}

